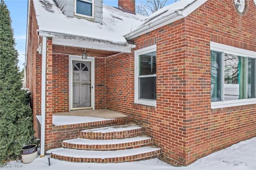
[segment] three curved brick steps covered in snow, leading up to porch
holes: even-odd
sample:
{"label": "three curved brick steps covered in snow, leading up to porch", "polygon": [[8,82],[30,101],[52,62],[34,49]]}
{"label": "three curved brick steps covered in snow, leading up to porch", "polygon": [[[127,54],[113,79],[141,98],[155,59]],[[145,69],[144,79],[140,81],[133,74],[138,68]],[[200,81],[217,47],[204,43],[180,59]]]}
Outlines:
{"label": "three curved brick steps covered in snow, leading up to porch", "polygon": [[145,129],[135,124],[80,131],[77,139],[65,140],[62,148],[48,150],[52,157],[70,162],[128,162],[162,156]]}

